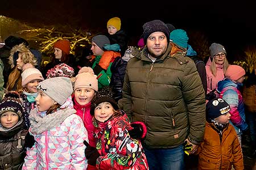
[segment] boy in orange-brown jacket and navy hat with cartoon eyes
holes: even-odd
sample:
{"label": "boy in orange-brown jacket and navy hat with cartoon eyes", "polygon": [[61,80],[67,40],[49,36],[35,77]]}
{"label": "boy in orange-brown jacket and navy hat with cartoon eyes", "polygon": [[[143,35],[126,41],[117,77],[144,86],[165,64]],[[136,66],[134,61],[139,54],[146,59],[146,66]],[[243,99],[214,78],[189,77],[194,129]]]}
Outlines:
{"label": "boy in orange-brown jacket and navy hat with cartoon eyes", "polygon": [[230,106],[220,98],[209,100],[207,123],[199,154],[199,169],[244,169],[243,155],[236,130],[229,124]]}

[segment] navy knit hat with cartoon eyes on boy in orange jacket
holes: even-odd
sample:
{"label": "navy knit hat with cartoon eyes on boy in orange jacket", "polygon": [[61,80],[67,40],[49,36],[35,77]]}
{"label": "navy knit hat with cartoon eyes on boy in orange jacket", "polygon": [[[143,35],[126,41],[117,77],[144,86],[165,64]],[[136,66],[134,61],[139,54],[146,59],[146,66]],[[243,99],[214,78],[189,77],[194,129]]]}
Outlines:
{"label": "navy knit hat with cartoon eyes on boy in orange jacket", "polygon": [[214,120],[214,118],[217,118],[222,114],[228,113],[229,111],[230,106],[228,103],[226,103],[225,100],[220,98],[214,98],[212,100],[209,100],[206,105],[207,121],[211,122],[210,120]]}

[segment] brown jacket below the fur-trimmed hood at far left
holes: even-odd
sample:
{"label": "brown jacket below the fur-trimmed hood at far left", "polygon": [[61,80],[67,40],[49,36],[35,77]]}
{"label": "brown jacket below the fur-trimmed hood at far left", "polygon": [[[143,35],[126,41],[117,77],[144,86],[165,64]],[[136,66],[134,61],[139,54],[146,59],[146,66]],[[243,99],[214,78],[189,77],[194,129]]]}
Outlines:
{"label": "brown jacket below the fur-trimmed hood at far left", "polygon": [[22,91],[22,77],[21,77],[21,70],[17,67],[13,71],[11,71],[8,82],[6,84],[7,91],[15,90],[18,92]]}

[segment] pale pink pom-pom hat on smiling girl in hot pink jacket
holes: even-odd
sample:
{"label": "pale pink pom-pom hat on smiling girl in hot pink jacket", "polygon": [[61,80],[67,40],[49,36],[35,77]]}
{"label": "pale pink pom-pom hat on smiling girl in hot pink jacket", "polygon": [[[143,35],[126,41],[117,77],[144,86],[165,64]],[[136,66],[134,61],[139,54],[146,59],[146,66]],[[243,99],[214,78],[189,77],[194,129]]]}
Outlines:
{"label": "pale pink pom-pom hat on smiling girl in hot pink jacket", "polygon": [[[76,88],[88,87],[92,88],[94,91],[98,91],[97,75],[94,75],[92,68],[87,68],[88,72],[82,72],[76,75],[74,90],[76,90]],[[85,70],[84,67],[82,67],[82,69]]]}

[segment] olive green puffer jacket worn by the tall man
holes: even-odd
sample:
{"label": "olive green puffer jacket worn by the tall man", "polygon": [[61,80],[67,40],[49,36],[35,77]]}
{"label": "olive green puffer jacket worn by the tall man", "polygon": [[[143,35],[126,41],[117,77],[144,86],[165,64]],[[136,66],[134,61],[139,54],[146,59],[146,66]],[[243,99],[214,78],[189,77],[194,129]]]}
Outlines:
{"label": "olive green puffer jacket worn by the tall man", "polygon": [[152,62],[147,48],[127,63],[123,109],[132,121],[144,122],[149,148],[175,148],[185,139],[199,144],[204,137],[205,95],[192,59],[185,52],[170,56],[171,45]]}

